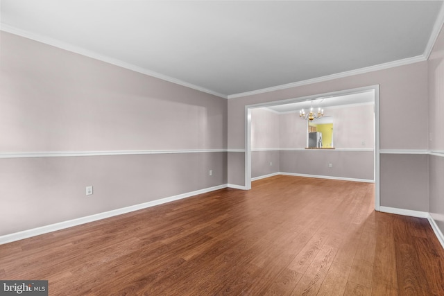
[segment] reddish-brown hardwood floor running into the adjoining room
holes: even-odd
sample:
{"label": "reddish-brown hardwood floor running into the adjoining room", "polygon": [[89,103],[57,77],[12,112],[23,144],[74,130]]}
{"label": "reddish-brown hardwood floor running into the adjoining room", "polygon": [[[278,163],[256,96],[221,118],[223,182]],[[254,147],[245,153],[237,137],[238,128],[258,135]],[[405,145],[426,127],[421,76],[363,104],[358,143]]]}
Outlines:
{"label": "reddish-brown hardwood floor running into the adjoining room", "polygon": [[444,295],[426,219],[374,185],[275,176],[0,245],[0,279],[49,295]]}

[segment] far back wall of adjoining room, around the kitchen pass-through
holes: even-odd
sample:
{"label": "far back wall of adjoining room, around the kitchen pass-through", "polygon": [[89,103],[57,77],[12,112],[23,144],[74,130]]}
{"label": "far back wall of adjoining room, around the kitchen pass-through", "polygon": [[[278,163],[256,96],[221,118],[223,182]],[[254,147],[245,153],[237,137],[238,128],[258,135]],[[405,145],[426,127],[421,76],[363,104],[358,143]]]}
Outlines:
{"label": "far back wall of adjoining room, around the kitchen pass-through", "polygon": [[334,121],[336,149],[305,150],[307,121],[301,121],[297,112],[280,115],[281,172],[373,181],[373,105],[337,106],[325,114]]}

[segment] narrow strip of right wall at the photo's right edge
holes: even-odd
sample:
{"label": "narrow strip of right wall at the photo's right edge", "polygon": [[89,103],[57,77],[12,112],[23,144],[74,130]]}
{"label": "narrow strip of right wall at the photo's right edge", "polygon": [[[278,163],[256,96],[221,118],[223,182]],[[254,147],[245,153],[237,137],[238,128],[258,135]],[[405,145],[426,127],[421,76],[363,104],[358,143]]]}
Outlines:
{"label": "narrow strip of right wall at the photo's right edge", "polygon": [[428,60],[429,74],[429,213],[444,233],[444,30]]}

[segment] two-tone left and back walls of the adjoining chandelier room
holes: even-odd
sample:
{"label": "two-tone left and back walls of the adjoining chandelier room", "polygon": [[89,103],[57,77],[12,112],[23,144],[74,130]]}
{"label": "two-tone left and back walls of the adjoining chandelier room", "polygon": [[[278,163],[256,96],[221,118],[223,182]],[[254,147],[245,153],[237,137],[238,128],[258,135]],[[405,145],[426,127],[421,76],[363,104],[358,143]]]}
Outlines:
{"label": "two-tone left and back walls of the adjoining chandelier room", "polygon": [[[251,177],[275,173],[373,182],[374,107],[338,106],[334,150],[307,150],[307,121],[298,112],[278,114],[266,107],[251,110]],[[329,166],[332,164],[332,167]]]}

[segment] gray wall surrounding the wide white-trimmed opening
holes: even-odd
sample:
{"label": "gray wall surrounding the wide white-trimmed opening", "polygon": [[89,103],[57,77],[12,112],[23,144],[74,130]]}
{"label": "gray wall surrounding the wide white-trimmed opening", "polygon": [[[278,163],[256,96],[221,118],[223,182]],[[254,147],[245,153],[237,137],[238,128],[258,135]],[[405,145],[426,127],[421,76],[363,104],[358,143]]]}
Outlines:
{"label": "gray wall surrounding the wide white-trimmed opening", "polygon": [[[390,159],[392,166],[397,168],[399,172],[398,175],[388,175],[384,171],[386,167],[381,166],[381,175],[388,178],[387,182],[381,183],[380,186],[381,205],[386,206],[387,204],[387,207],[390,205],[399,209],[407,209],[411,207],[411,204],[428,204],[428,192],[425,191],[427,189],[427,178],[421,181],[420,188],[424,190],[418,195],[409,192],[406,187],[394,188],[395,184],[400,182],[408,183],[412,181],[411,175],[402,171],[403,164],[401,161],[411,159],[412,162],[416,162],[418,157],[413,151],[427,150],[428,123],[425,120],[429,111],[427,107],[427,62],[416,62],[325,82],[232,98],[228,100],[228,150],[230,148],[245,149],[246,105],[339,92],[370,85],[379,85],[380,148],[391,150],[390,153],[384,154],[381,162]],[[398,157],[405,150],[411,150],[412,154]],[[420,157],[418,161],[422,162],[422,165],[427,164],[427,157]],[[240,186],[245,185],[244,166],[242,168],[240,166],[231,168],[228,164],[228,172],[233,176],[234,173],[237,176],[242,176],[237,180],[231,179],[231,182]],[[398,190],[399,194],[391,194],[395,189]],[[399,198],[400,195],[403,198]],[[413,206],[412,210],[421,211],[422,207]]]}

